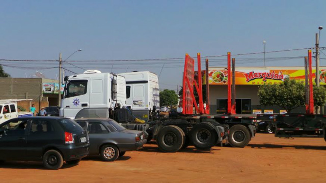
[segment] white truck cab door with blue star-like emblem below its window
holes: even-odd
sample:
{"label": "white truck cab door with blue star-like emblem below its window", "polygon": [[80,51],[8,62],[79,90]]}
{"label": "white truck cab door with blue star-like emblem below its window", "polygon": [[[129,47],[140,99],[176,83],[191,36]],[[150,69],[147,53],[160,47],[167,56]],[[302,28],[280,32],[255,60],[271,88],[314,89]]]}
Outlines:
{"label": "white truck cab door with blue star-like emblem below its window", "polygon": [[63,116],[74,119],[77,113],[90,106],[90,78],[77,78],[67,82],[62,100]]}

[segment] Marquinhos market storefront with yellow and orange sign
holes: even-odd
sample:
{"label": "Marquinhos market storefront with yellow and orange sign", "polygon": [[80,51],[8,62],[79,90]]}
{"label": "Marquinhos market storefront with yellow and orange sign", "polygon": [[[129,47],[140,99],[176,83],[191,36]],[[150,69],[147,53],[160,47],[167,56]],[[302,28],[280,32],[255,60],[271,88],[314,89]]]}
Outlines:
{"label": "Marquinhos market storefront with yellow and orange sign", "polygon": [[[315,84],[315,70],[313,83]],[[228,78],[226,68],[209,68],[209,103],[210,113],[226,113]],[[202,71],[205,84],[205,71]],[[280,84],[284,79],[290,78],[305,82],[304,67],[236,67],[235,71],[235,95],[236,113],[283,113],[283,108],[278,106],[261,106],[259,103],[258,87],[262,84]],[[320,67],[320,86],[326,86],[326,67]],[[322,108],[324,109],[324,107]],[[304,113],[305,107],[298,107],[291,111]],[[324,112],[325,113],[325,112]]]}

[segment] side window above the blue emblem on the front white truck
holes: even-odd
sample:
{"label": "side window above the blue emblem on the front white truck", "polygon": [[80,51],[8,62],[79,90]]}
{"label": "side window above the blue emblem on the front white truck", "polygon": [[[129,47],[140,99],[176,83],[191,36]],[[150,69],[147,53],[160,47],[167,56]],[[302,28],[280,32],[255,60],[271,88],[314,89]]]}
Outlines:
{"label": "side window above the blue emblem on the front white truck", "polygon": [[87,80],[71,80],[67,84],[66,98],[76,97],[87,93]]}

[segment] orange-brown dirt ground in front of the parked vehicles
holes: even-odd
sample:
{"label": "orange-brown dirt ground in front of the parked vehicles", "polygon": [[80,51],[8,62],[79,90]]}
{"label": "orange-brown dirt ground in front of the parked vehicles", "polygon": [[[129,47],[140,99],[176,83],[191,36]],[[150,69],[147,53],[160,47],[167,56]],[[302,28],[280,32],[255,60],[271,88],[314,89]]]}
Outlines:
{"label": "orange-brown dirt ground in front of the parked vehicles", "polygon": [[245,148],[193,146],[178,153],[160,153],[155,144],[127,152],[115,162],[97,158],[60,170],[40,163],[7,162],[1,182],[324,182],[326,142],[323,139],[280,139],[257,134]]}

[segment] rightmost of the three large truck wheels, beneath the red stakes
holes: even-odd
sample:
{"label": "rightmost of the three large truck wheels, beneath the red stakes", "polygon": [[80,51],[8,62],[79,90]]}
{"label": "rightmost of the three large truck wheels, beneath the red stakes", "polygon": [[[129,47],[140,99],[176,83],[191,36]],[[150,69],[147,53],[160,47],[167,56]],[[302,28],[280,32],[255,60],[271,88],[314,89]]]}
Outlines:
{"label": "rightmost of the three large truck wheels, beneath the red stakes", "polygon": [[244,147],[250,141],[249,130],[243,125],[234,125],[230,128],[229,142],[232,147]]}

